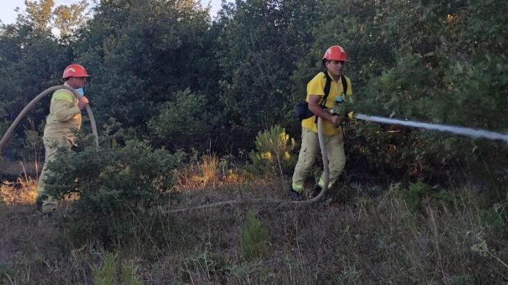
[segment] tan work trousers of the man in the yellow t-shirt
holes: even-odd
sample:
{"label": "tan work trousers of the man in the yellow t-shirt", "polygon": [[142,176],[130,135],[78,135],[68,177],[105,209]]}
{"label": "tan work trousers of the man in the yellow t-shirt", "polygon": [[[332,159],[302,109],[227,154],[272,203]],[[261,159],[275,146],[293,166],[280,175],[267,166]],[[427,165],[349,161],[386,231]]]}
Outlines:
{"label": "tan work trousers of the man in the yellow t-shirt", "polygon": [[[329,183],[328,187],[334,184],[337,177],[343,172],[345,166],[344,140],[343,132],[333,136],[323,135],[325,149],[328,158]],[[309,175],[316,162],[316,156],[319,150],[318,133],[309,129],[302,129],[302,147],[298,155],[298,162],[293,173],[293,190],[302,193],[304,189],[304,179]],[[321,174],[318,181],[319,186],[325,185],[325,173]]]}

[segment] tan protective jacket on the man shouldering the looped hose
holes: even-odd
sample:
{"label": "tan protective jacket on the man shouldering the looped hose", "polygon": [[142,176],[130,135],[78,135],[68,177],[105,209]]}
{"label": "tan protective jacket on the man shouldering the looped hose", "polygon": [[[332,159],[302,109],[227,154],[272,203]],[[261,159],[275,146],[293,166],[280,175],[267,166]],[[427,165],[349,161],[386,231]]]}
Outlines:
{"label": "tan protective jacket on the man shouldering the looped hose", "polygon": [[[64,85],[69,86],[67,82]],[[81,110],[78,107],[78,99],[70,90],[56,90],[51,97],[49,115],[42,138],[67,138],[74,143],[76,139],[74,133],[80,128]]]}

